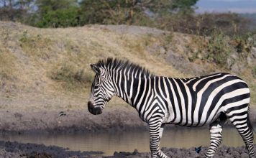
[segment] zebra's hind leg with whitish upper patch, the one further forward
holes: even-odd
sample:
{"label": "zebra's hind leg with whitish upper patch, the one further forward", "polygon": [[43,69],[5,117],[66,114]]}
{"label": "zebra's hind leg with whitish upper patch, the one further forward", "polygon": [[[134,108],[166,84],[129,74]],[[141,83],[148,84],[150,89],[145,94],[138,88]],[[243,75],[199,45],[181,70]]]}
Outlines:
{"label": "zebra's hind leg with whitish upper patch, the one further forward", "polygon": [[216,150],[222,142],[222,127],[227,121],[226,116],[220,116],[219,119],[210,124],[211,144],[206,152],[206,157],[214,157]]}

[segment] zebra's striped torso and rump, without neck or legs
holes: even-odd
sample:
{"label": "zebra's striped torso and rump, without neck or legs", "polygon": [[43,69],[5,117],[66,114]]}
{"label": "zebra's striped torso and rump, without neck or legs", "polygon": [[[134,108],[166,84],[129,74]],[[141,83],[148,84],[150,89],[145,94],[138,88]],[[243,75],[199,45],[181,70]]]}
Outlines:
{"label": "zebra's striped torso and rump, without neck or legs", "polygon": [[203,126],[221,113],[247,111],[250,102],[250,90],[244,80],[228,73],[159,80],[156,93],[168,105],[165,120],[169,124]]}

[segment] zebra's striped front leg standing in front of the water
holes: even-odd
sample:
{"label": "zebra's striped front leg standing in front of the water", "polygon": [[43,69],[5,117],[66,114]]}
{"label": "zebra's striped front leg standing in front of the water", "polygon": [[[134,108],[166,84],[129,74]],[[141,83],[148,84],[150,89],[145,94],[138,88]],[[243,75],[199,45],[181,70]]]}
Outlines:
{"label": "zebra's striped front leg standing in front of the water", "polygon": [[168,158],[161,150],[160,150],[160,139],[163,134],[163,125],[162,121],[152,121],[149,123],[150,126],[150,151],[151,157],[160,157],[160,158]]}

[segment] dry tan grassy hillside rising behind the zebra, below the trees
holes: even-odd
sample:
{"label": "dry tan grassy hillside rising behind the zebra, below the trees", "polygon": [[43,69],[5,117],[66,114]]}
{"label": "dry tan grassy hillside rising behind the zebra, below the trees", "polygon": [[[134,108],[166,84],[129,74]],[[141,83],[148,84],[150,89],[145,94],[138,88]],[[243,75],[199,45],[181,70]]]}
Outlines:
{"label": "dry tan grassy hillside rising behind the zebra, below the trees", "polygon": [[[255,104],[256,58],[251,52],[245,58],[234,53],[230,68],[223,66],[227,60],[221,66],[215,61],[219,54],[208,57],[206,52],[219,46],[220,52],[225,51],[222,47],[229,49],[229,43],[222,45],[207,39],[147,27],[88,25],[38,29],[0,22],[0,108],[87,110],[94,75],[89,63],[105,57],[128,59],[156,75],[175,78],[216,71],[236,73],[250,83]],[[232,49],[229,53],[235,52]],[[127,106],[119,98],[109,103],[117,105]]]}

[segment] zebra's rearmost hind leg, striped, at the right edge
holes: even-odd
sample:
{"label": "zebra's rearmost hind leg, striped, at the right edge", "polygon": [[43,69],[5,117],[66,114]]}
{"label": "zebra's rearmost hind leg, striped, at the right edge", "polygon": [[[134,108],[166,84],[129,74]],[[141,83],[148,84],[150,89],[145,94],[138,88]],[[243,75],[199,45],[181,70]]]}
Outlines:
{"label": "zebra's rearmost hind leg, striped, at the right edge", "polygon": [[242,111],[241,109],[238,113],[230,112],[227,113],[227,116],[242,136],[244,144],[249,152],[249,157],[255,158],[252,125],[250,124],[250,117],[247,108],[245,108],[245,110],[246,111]]}

